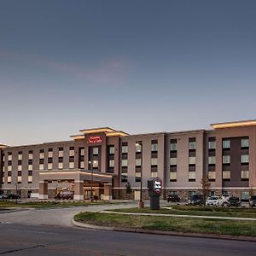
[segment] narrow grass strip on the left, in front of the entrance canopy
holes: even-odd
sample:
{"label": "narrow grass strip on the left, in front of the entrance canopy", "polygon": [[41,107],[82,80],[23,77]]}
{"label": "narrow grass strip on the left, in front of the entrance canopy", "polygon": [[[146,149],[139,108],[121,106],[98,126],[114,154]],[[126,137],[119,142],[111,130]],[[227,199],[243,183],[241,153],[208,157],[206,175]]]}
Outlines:
{"label": "narrow grass strip on the left, in front of the entrance canopy", "polygon": [[84,202],[84,201],[30,201],[19,202],[16,204],[14,201],[0,201],[0,209],[9,207],[31,207],[31,208],[51,208],[51,207],[86,207],[89,205],[102,205],[102,204],[117,204],[114,202]]}

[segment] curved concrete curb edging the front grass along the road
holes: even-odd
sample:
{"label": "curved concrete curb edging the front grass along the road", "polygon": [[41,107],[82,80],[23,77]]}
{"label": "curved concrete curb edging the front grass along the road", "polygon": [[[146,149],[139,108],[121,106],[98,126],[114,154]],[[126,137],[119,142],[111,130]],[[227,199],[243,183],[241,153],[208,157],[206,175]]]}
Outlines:
{"label": "curved concrete curb edging the front grass along the road", "polygon": [[223,240],[231,240],[231,241],[256,241],[256,237],[250,237],[250,236],[229,236],[229,235],[214,235],[214,234],[203,234],[203,233],[182,233],[182,232],[174,232],[174,231],[143,230],[143,229],[96,226],[96,225],[91,225],[91,224],[80,223],[78,221],[75,221],[74,218],[72,220],[72,224],[76,227],[90,229],[90,230],[111,230],[111,231],[142,233],[142,234],[150,234],[150,235],[185,236],[185,237],[197,237],[197,238],[209,238],[209,239],[223,239]]}

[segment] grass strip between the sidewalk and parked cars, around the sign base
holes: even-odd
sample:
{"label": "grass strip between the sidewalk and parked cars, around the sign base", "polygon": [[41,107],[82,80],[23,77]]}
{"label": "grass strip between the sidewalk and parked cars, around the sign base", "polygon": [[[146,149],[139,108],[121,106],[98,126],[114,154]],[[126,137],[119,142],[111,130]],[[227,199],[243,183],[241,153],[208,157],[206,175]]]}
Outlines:
{"label": "grass strip between the sidewalk and parked cars, around the sign base", "polygon": [[[256,218],[256,208],[229,208],[229,207],[200,207],[200,206],[168,206],[170,209],[160,208],[159,211],[150,210],[149,207],[142,209],[129,208],[113,210],[114,212],[143,212],[143,213],[163,213],[178,215],[200,215],[200,216],[220,216],[238,218]],[[172,209],[171,209],[172,207]]]}

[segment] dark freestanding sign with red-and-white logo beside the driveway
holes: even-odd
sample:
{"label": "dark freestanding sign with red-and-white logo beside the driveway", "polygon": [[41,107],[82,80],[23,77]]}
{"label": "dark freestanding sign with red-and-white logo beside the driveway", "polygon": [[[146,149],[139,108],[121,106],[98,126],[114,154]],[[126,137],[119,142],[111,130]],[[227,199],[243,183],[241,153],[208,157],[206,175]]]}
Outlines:
{"label": "dark freestanding sign with red-and-white logo beside the driveway", "polygon": [[162,180],[159,177],[148,179],[148,195],[150,196],[150,210],[160,209],[160,195],[162,192]]}

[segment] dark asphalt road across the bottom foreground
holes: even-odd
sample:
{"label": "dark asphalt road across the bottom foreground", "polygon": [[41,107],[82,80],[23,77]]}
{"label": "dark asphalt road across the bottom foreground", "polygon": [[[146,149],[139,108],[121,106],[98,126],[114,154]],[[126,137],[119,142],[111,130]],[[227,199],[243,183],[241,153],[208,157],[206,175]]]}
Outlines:
{"label": "dark asphalt road across the bottom foreground", "polygon": [[256,242],[0,224],[3,255],[255,255]]}

